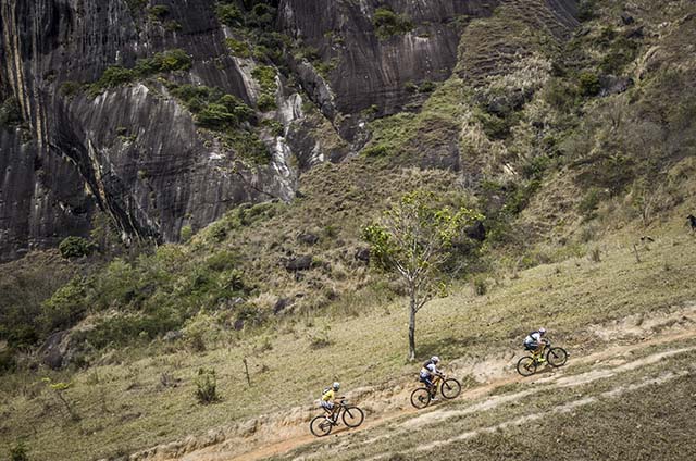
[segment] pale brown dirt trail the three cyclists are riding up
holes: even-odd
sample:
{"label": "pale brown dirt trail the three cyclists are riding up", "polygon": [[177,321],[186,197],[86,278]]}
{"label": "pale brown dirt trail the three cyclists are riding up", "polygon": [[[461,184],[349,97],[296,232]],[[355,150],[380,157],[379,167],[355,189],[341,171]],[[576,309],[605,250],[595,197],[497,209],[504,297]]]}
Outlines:
{"label": "pale brown dirt trail the three cyclists are riding up", "polygon": [[[636,326],[636,323],[644,323],[644,325]],[[655,332],[660,332],[660,334],[656,335]],[[605,348],[599,351],[585,354],[583,357],[573,356],[571,357],[569,365],[563,369],[550,371],[550,374],[542,372],[531,378],[524,378],[517,375],[517,373],[514,372],[510,372],[505,377],[493,379],[484,383],[481,386],[467,389],[462,393],[459,399],[480,399],[481,397],[492,394],[497,388],[521,382],[535,382],[539,385],[549,384],[558,387],[576,386],[592,382],[594,379],[609,377],[624,371],[644,366],[646,364],[654,363],[655,361],[659,361],[664,356],[654,354],[649,356],[646,359],[627,363],[624,357],[630,354],[630,352],[634,350],[641,350],[650,346],[663,345],[680,339],[696,337],[696,303],[689,304],[686,308],[672,312],[668,315],[661,315],[659,322],[652,319],[648,320],[647,322],[644,319],[637,319],[635,322],[623,322],[622,324],[620,324],[620,326],[616,325],[616,327],[611,329],[611,335],[609,335],[609,333],[606,333],[606,331],[604,335],[606,337],[602,337],[602,339],[612,340],[621,338],[622,340],[633,340],[634,342]],[[650,336],[651,338],[648,339],[648,337]],[[581,373],[580,375],[574,376],[566,376],[567,370],[572,371],[572,369],[576,365],[588,363],[601,363],[602,365],[610,365],[610,367],[591,370],[589,372]],[[418,410],[411,408],[408,403],[409,395],[412,390],[412,387],[413,382],[409,381],[400,383],[400,386],[398,386],[399,390],[397,393],[374,389],[364,390],[363,395],[360,396],[361,398],[353,399],[353,401],[356,401],[359,406],[363,406],[363,402],[375,401],[376,399],[381,399],[383,397],[387,399],[390,404],[387,404],[386,407],[377,410],[368,411],[366,421],[361,427],[357,429],[346,431],[346,428],[339,426],[332,433],[332,436],[330,438],[325,439],[335,440],[336,437],[349,437],[350,434],[380,426],[409,414],[418,413]],[[420,424],[427,424],[428,422],[439,421],[461,414],[461,411],[467,412],[486,410],[488,408],[494,408],[510,400],[524,398],[530,394],[536,393],[537,390],[534,389],[537,388],[538,386],[530,390],[524,390],[512,395],[494,396],[490,399],[476,404],[475,408],[467,410],[440,410],[435,407],[431,411],[421,411],[421,413],[417,418],[408,419],[400,425],[403,427],[403,429],[413,429]],[[395,404],[394,402],[401,402],[401,404]],[[589,403],[589,401],[577,402],[577,404],[586,403]],[[371,410],[369,404],[364,404],[364,407],[368,410]],[[215,440],[207,444],[207,446],[203,446],[200,449],[190,447],[190,449],[185,450],[185,453],[181,453],[177,456],[166,456],[166,450],[159,450],[156,448],[149,450],[149,453],[152,456],[136,459],[148,459],[157,461],[253,461],[282,454],[318,440],[316,437],[312,436],[309,433],[307,421],[303,421],[301,423],[289,423],[288,421],[282,422],[279,424],[276,423],[277,422],[269,423],[268,427],[264,428],[263,434],[257,434],[252,437],[239,437],[238,435],[231,437],[220,437],[222,439],[216,438]],[[372,440],[381,439],[384,436],[376,437]],[[366,443],[370,441],[371,440],[368,440]],[[311,458],[311,456],[309,458]]]}

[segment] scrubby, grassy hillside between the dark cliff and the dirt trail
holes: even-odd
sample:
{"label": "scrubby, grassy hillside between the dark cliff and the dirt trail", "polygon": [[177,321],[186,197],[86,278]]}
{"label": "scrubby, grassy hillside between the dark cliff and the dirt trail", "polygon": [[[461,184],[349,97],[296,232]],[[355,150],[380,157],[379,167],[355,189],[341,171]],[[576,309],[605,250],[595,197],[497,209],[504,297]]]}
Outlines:
{"label": "scrubby, grassy hillside between the dark cliff and the dirt trail", "polygon": [[[360,154],[308,171],[294,201],[239,207],[187,229],[182,245],[72,260],[36,253],[0,266],[0,453],[24,440],[30,459],[116,457],[210,428],[237,434],[290,408],[287,424],[302,424],[334,379],[348,389],[411,384],[402,288],[356,254],[361,227],[415,188],[472,204],[488,230],[477,258],[462,259],[467,271],[450,274],[450,296],[419,315],[422,357],[481,364],[494,356],[494,373],[505,373],[520,337],[540,323],[579,348],[601,345],[602,325],[693,301],[696,240],[684,225],[696,197],[693,4],[582,2],[569,37],[542,27],[544,8],[521,4],[470,23],[451,78],[422,108],[371,121]],[[113,248],[99,229],[100,248]],[[63,329],[70,365],[38,365],[37,346]],[[196,401],[201,367],[215,371],[221,401]],[[681,377],[669,385],[693,390]],[[637,404],[629,393],[579,418]],[[523,429],[506,431],[486,450],[563,459],[538,451]],[[418,459],[417,443],[389,450]]]}

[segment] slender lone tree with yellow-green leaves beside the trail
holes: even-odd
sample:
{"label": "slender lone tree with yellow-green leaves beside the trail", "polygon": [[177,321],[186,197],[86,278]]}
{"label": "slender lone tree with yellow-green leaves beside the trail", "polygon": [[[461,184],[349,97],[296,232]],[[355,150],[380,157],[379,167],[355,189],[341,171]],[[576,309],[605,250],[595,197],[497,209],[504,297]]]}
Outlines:
{"label": "slender lone tree with yellow-green leaves beside the trail", "polygon": [[381,222],[363,229],[372,260],[396,273],[409,295],[409,360],[415,359],[415,314],[444,290],[443,269],[464,227],[483,216],[468,208],[451,209],[433,192],[414,191],[385,211]]}

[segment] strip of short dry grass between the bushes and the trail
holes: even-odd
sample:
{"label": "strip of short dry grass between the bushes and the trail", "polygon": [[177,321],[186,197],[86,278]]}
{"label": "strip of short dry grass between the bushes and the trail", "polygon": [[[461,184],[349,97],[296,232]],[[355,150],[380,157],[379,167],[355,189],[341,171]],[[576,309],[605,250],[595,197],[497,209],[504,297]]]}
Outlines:
{"label": "strip of short dry grass between the bushes and the trail", "polygon": [[[521,336],[540,323],[558,341],[581,342],[594,337],[593,324],[693,300],[695,267],[689,254],[694,240],[676,230],[681,229],[662,236],[641,264],[626,241],[608,240],[599,263],[572,258],[540,265],[492,286],[485,297],[474,296],[469,286],[460,287],[419,315],[419,352],[422,357],[437,352],[447,361],[476,357],[472,346],[485,332],[495,353],[517,348]],[[670,271],[664,271],[664,261],[670,261]],[[153,357],[133,362],[128,357],[142,351],[114,351],[109,361],[104,359],[111,364],[74,376],[40,371],[3,378],[7,406],[0,451],[26,438],[38,459],[94,459],[310,403],[334,379],[350,389],[413,373],[413,365],[405,361],[403,301],[353,302],[362,307],[359,316],[335,311],[325,317],[288,320],[262,339],[204,353],[153,344],[148,352]],[[316,337],[328,345],[313,349]],[[162,353],[163,348],[170,353]],[[251,387],[241,372],[243,357],[249,357]],[[194,378],[201,366],[215,369],[220,403],[196,403]],[[163,373],[181,383],[162,386]],[[57,413],[52,395],[37,384],[45,374],[54,382],[72,379],[65,397],[82,416],[79,422]],[[272,399],[269,389],[273,389]],[[71,444],[62,443],[66,439]]]}

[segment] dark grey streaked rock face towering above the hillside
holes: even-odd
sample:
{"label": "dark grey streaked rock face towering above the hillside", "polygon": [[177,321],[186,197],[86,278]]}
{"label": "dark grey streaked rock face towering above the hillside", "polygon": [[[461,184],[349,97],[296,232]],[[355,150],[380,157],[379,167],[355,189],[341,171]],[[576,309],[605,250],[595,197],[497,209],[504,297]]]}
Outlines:
{"label": "dark grey streaked rock face towering above the hillside", "polygon": [[[420,88],[451,75],[467,22],[500,2],[265,3],[275,15],[263,27],[287,46],[273,62],[233,57],[226,39],[240,35],[220,24],[214,0],[158,0],[163,20],[145,0],[0,3],[0,104],[14,98],[22,116],[0,126],[0,261],[87,235],[97,210],[124,235],[176,241],[184,226],[201,228],[236,204],[290,200],[301,173],[364,145],[366,120],[417,109]],[[545,4],[559,27],[573,21],[575,1]],[[385,34],[377,9],[408,26]],[[172,49],[191,58],[190,68],[85,87],[110,66]],[[314,51],[296,52],[306,49]],[[276,72],[276,108],[256,109],[269,159],[250,162],[201,129],[167,88],[204,85],[258,108],[261,64]]]}

